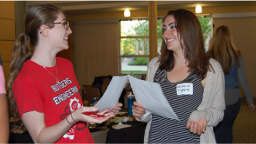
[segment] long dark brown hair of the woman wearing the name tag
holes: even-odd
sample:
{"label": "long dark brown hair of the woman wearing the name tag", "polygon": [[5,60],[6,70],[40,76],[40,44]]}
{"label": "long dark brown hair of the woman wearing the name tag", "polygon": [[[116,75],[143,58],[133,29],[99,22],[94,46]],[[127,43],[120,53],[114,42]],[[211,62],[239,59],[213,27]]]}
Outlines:
{"label": "long dark brown hair of the woman wearing the name tag", "polygon": [[[210,70],[210,62],[206,56],[202,28],[197,16],[189,10],[170,10],[166,14],[174,16],[178,38],[184,50],[186,62],[191,70],[198,72],[199,78],[205,78]],[[166,19],[164,18],[164,20]],[[182,41],[183,42],[182,42]],[[166,42],[162,40],[161,55],[159,58],[161,70],[173,70],[175,59],[172,50],[167,50]],[[212,68],[212,67],[211,67]]]}

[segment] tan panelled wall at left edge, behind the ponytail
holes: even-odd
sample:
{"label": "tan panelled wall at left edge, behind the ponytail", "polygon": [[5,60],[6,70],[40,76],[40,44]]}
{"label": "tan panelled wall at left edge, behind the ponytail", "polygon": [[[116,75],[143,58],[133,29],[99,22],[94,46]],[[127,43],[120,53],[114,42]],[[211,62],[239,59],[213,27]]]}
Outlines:
{"label": "tan panelled wall at left edge, behind the ponytail", "polygon": [[[15,41],[14,1],[0,1],[0,53],[6,82],[10,75],[10,59]],[[6,90],[8,88],[6,86]]]}

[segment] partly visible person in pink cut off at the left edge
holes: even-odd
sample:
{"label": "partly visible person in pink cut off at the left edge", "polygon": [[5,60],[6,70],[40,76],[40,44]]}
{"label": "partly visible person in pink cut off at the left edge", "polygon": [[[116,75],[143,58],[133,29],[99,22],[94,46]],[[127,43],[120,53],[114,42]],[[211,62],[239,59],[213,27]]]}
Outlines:
{"label": "partly visible person in pink cut off at the left edge", "polygon": [[0,143],[8,143],[10,127],[9,127],[9,114],[6,98],[6,80],[5,74],[2,69],[2,58],[0,54]]}

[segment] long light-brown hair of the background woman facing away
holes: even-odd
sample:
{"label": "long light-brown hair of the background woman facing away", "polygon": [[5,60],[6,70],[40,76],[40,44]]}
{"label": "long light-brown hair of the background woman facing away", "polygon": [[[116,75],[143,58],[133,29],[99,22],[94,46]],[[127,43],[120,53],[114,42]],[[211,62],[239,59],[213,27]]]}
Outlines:
{"label": "long light-brown hair of the background woman facing away", "polygon": [[226,25],[218,26],[214,31],[207,54],[221,64],[224,74],[230,73],[230,67],[234,66],[234,60],[240,66],[241,52],[234,46],[230,28]]}

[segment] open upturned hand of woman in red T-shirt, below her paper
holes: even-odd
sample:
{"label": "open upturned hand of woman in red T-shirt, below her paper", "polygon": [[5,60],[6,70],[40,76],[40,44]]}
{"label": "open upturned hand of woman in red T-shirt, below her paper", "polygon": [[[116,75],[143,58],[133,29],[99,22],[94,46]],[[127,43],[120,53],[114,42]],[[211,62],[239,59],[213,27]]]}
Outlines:
{"label": "open upturned hand of woman in red T-shirt, below her paper", "polygon": [[[93,117],[90,115],[82,114],[83,112],[94,112],[96,114],[105,115],[105,117],[102,117],[102,118]],[[109,110],[102,110],[101,112],[98,113],[97,106],[89,106],[89,107],[83,106],[78,110],[75,110],[72,116],[76,122],[82,121],[82,122],[89,122],[89,123],[102,123],[102,122],[105,122],[107,119],[114,117],[114,112],[110,112]]]}

